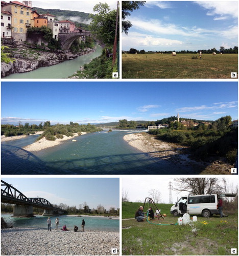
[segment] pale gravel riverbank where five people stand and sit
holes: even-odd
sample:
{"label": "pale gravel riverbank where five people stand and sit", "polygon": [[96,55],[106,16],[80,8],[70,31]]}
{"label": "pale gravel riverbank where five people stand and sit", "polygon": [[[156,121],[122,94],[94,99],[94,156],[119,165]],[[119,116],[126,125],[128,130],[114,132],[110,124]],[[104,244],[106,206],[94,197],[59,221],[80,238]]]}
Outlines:
{"label": "pale gravel riverbank where five people stand and sit", "polygon": [[1,232],[2,255],[119,255],[120,233],[9,228]]}

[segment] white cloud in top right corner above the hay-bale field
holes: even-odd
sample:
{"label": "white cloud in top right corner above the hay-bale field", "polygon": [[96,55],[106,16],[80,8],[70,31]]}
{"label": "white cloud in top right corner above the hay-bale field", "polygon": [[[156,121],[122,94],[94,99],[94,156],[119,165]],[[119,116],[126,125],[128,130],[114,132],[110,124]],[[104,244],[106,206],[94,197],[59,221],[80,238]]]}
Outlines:
{"label": "white cloud in top right corner above the hay-bale field", "polygon": [[230,15],[235,18],[238,16],[238,2],[236,1],[197,1],[195,3],[208,9],[207,15]]}

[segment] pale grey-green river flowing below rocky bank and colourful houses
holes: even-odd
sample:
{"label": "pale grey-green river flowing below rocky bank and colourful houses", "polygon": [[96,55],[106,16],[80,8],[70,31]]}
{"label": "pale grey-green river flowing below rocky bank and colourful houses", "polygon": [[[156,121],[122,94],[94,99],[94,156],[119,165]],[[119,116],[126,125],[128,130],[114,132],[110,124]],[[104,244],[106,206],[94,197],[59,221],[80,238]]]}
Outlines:
{"label": "pale grey-green river flowing below rocky bank and colourful houses", "polygon": [[81,55],[75,59],[67,60],[50,67],[41,67],[26,73],[11,74],[4,77],[4,79],[67,78],[68,76],[73,75],[76,71],[80,70],[80,67],[85,63],[89,63],[91,59],[99,57],[101,53],[102,48],[98,45],[95,51],[89,54]]}

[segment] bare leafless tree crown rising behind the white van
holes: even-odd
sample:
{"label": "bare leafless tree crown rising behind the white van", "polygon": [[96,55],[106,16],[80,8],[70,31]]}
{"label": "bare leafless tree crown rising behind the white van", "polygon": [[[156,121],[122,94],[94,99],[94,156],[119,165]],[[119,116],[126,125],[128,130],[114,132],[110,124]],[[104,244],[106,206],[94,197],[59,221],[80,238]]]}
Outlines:
{"label": "bare leafless tree crown rising behind the white van", "polygon": [[222,193],[225,191],[225,182],[221,178],[174,178],[174,181],[176,182],[175,191],[187,191],[192,195]]}

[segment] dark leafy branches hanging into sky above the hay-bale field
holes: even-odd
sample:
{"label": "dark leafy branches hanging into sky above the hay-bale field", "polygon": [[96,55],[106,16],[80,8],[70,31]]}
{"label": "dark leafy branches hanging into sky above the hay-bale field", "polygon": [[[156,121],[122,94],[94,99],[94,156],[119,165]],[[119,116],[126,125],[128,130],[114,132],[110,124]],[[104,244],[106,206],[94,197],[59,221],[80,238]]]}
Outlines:
{"label": "dark leafy branches hanging into sky above the hay-bale field", "polygon": [[130,16],[130,12],[144,6],[145,3],[146,1],[122,1],[122,33],[128,34],[128,30],[132,27],[131,22],[124,19]]}

